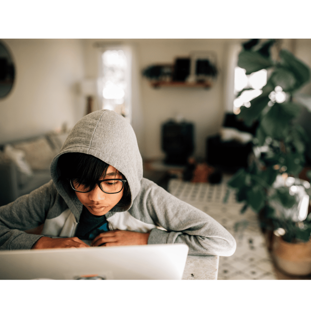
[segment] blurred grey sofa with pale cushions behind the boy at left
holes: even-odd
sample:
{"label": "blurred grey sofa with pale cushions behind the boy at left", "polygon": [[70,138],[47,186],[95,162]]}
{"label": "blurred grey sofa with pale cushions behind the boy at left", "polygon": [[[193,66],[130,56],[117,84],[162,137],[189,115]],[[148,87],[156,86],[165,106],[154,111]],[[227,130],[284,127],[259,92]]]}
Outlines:
{"label": "blurred grey sofa with pale cushions behind the boy at left", "polygon": [[68,134],[49,132],[0,145],[0,206],[51,180],[51,162]]}

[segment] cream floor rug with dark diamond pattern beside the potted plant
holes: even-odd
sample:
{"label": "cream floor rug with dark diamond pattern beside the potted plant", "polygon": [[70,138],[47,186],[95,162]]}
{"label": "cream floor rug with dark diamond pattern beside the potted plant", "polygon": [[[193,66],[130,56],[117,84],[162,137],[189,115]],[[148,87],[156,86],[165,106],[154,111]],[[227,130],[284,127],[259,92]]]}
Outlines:
{"label": "cream floor rug with dark diamond pattern beside the potted plant", "polygon": [[228,180],[229,176],[224,176],[222,183],[212,185],[170,179],[168,191],[216,219],[236,239],[235,253],[220,257],[218,280],[276,280],[256,213],[247,209],[241,214],[243,204],[236,202],[233,191],[223,203]]}

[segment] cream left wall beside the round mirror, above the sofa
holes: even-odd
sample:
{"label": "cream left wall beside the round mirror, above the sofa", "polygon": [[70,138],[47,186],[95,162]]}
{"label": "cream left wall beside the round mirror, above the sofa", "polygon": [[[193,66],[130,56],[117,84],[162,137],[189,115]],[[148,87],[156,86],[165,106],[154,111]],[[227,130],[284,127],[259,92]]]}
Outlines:
{"label": "cream left wall beside the round mirror, above the sofa", "polygon": [[0,99],[0,143],[71,128],[85,103],[76,83],[84,76],[79,39],[4,39],[11,50],[16,81]]}

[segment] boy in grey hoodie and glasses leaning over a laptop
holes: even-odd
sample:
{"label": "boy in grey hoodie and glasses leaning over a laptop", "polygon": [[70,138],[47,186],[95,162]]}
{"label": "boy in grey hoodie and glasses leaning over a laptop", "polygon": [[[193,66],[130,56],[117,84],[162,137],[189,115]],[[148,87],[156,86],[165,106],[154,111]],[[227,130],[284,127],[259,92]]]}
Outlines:
{"label": "boy in grey hoodie and glasses leaning over a laptop", "polygon": [[[0,249],[88,247],[89,241],[185,243],[189,255],[234,253],[236,242],[224,227],[142,172],[136,136],[125,118],[110,110],[86,115],[53,159],[52,180],[0,207]],[[41,234],[24,232],[42,224]]]}

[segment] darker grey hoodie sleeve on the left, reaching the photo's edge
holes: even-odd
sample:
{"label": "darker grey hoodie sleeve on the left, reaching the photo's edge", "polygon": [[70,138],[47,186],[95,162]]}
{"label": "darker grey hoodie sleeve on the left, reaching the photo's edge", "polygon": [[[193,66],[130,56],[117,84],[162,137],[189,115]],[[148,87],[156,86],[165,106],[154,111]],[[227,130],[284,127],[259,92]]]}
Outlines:
{"label": "darker grey hoodie sleeve on the left, reaching the photo's edge", "polygon": [[23,230],[44,223],[49,208],[56,198],[50,181],[14,202],[0,207],[0,250],[30,249],[44,235],[28,234]]}

